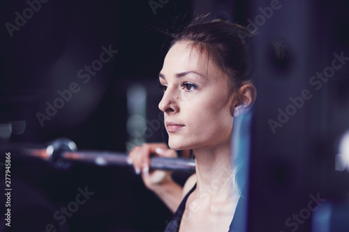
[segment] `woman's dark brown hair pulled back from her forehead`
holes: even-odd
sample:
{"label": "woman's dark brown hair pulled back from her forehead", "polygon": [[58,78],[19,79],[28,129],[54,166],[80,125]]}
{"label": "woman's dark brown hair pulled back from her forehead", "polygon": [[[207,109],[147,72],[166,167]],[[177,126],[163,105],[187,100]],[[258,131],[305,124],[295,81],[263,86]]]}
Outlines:
{"label": "woman's dark brown hair pulled back from her forehead", "polygon": [[239,24],[225,20],[204,20],[205,16],[197,17],[179,33],[172,34],[170,47],[184,40],[189,42],[192,48],[207,52],[209,59],[211,58],[218,68],[228,75],[228,86],[232,93],[237,93],[239,87],[250,82],[250,41],[246,38],[251,38],[253,33]]}

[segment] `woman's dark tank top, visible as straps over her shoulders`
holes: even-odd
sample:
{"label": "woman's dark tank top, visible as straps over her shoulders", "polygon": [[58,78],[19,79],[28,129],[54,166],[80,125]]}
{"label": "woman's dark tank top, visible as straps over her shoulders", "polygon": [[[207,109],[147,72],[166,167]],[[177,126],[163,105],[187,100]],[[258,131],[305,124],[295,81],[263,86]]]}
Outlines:
{"label": "woman's dark tank top, visible as straps over her shoulders", "polygon": [[[196,184],[191,189],[191,191],[184,196],[183,201],[181,201],[181,204],[179,205],[176,212],[174,212],[174,215],[172,217],[171,222],[166,226],[166,229],[164,232],[178,232],[179,231],[179,225],[181,224],[181,217],[183,216],[184,210],[186,208],[186,200],[188,199],[188,196],[195,190]],[[246,215],[246,207],[245,207],[246,201],[244,200],[244,196],[240,196],[239,201],[237,202],[237,208],[235,210],[234,217],[232,218],[232,222],[229,226],[228,232],[244,232],[244,222],[245,222],[245,215]]]}

